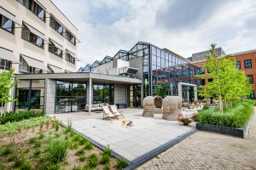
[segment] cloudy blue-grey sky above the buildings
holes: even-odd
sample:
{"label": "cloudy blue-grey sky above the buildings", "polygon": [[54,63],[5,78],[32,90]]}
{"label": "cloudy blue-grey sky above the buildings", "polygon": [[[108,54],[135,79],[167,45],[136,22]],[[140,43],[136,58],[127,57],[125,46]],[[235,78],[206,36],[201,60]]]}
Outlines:
{"label": "cloudy blue-grey sky above the buildings", "polygon": [[79,29],[79,67],[137,42],[185,58],[212,43],[227,54],[256,48],[255,0],[52,0]]}

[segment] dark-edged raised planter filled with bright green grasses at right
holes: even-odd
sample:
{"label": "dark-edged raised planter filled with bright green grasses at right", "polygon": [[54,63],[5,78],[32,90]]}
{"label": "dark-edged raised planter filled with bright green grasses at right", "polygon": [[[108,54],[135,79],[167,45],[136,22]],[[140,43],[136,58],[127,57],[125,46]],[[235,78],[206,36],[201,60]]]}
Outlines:
{"label": "dark-edged raised planter filled with bright green grasses at right", "polygon": [[224,113],[218,113],[218,107],[203,110],[196,117],[196,128],[216,133],[230,134],[244,138],[247,124],[253,116],[253,102],[236,104]]}

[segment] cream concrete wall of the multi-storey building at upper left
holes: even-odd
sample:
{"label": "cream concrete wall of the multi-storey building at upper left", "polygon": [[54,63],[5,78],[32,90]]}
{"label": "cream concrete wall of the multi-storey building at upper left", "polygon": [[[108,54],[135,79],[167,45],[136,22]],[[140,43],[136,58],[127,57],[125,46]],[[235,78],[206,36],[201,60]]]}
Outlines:
{"label": "cream concrete wall of the multi-storey building at upper left", "polygon": [[[41,20],[36,14],[32,13],[30,9],[26,8],[20,2],[16,0],[3,0],[0,3],[0,7],[3,8],[5,12],[15,16],[15,19],[22,23],[22,26],[15,23],[14,33],[10,33],[3,28],[0,29],[0,37],[2,37],[0,47],[10,50],[15,54],[15,58],[17,60],[20,60],[22,54],[43,63],[45,68],[52,65],[59,68],[60,72],[77,71],[77,62],[75,61],[73,64],[70,61],[67,61],[66,55],[68,54],[68,50],[72,52],[74,58],[77,58],[77,38],[79,37],[79,30],[73,26],[71,21],[68,20],[67,17],[62,14],[50,0],[38,0],[34,2],[44,8],[44,20]],[[67,31],[70,31],[70,33],[73,34],[73,37],[76,37],[75,45],[50,26],[50,16],[55,17],[61,26],[64,26]],[[41,38],[43,38],[43,36],[46,37],[46,40],[48,41],[44,40],[43,48],[40,48],[32,42],[28,42],[22,38],[21,27],[24,27],[24,24],[32,26],[33,29],[40,32],[40,35],[42,35]],[[49,39],[61,46],[61,57],[49,52],[49,44],[52,44],[49,42]],[[32,66],[35,67],[34,65]],[[19,64],[12,64],[11,67],[15,69],[15,73],[22,73],[19,71]],[[47,69],[43,70],[43,72],[47,72]]]}

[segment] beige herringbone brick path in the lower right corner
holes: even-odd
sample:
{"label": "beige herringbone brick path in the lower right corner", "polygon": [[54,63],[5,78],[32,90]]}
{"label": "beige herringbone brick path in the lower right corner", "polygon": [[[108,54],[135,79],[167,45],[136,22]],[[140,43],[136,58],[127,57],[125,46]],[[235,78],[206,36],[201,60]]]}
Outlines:
{"label": "beige herringbone brick path in the lower right corner", "polygon": [[137,169],[256,169],[256,114],[247,139],[200,131]]}

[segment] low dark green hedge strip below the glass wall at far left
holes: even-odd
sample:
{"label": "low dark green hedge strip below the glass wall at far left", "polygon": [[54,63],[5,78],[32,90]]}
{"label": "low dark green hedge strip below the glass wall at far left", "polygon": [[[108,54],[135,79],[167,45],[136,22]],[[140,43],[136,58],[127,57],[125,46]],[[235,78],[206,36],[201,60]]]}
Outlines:
{"label": "low dark green hedge strip below the glass wall at far left", "polygon": [[44,111],[8,112],[3,116],[0,116],[0,124],[5,124],[7,122],[19,122],[37,116],[44,116]]}

